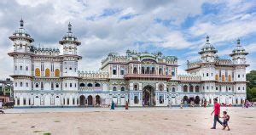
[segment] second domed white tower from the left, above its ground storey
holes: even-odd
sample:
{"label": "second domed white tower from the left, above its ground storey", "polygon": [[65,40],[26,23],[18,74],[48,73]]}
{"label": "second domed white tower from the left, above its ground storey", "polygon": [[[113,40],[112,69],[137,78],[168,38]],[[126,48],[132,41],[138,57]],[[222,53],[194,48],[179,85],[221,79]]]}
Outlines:
{"label": "second domed white tower from the left, above its ground storey", "polygon": [[82,59],[77,54],[77,48],[81,44],[78,38],[73,35],[72,25],[68,24],[67,34],[59,42],[63,47],[63,61],[61,63],[62,68],[62,89],[63,90],[78,90],[78,61]]}

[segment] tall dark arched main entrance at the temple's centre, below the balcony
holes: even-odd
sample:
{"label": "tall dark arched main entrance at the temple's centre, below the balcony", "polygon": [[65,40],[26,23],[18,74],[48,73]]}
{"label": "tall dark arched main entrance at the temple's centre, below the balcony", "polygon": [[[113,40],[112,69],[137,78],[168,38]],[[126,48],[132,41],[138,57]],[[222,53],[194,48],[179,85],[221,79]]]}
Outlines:
{"label": "tall dark arched main entrance at the temple's centre, below the balcony", "polygon": [[154,87],[146,86],[143,88],[143,105],[154,106]]}

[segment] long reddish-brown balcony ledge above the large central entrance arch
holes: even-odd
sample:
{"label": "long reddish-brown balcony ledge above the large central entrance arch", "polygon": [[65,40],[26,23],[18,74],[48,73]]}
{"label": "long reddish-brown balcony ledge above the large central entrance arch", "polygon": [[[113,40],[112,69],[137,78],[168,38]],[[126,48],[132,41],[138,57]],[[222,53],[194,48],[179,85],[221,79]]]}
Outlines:
{"label": "long reddish-brown balcony ledge above the large central entrance arch", "polygon": [[132,78],[154,78],[154,79],[169,80],[169,79],[172,79],[172,76],[170,76],[170,75],[155,75],[155,74],[125,74],[125,79],[132,79]]}

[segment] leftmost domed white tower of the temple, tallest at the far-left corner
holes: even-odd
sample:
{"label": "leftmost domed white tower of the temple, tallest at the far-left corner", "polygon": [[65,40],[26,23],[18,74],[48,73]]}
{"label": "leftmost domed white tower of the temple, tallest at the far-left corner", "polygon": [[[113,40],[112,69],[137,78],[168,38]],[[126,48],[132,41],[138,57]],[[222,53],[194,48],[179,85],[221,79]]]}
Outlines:
{"label": "leftmost domed white tower of the temple, tallest at the far-left corner", "polygon": [[34,40],[24,29],[22,19],[20,20],[20,28],[9,39],[14,46],[13,52],[8,54],[14,58],[14,74],[11,77],[14,78],[15,104],[28,105],[26,95],[17,95],[20,95],[21,91],[32,90],[32,42]]}

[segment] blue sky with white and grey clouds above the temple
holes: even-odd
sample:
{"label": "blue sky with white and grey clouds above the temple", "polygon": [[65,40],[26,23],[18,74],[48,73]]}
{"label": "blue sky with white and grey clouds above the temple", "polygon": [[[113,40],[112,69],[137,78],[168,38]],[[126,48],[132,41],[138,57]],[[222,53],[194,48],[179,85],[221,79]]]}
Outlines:
{"label": "blue sky with white and grey clouds above the temple", "polygon": [[71,22],[82,42],[79,70],[99,70],[108,53],[131,49],[177,56],[178,74],[185,74],[186,60],[200,59],[207,35],[224,59],[240,38],[249,53],[247,72],[256,70],[255,0],[1,0],[0,79],[13,74],[9,36],[21,17],[33,45],[42,48],[60,48]]}

